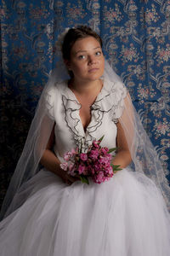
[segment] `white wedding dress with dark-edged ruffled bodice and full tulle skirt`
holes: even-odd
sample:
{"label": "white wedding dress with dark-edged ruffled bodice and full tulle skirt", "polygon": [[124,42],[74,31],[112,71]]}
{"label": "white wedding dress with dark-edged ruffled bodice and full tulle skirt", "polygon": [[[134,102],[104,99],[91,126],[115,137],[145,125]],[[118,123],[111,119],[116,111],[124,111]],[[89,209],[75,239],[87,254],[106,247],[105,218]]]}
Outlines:
{"label": "white wedding dress with dark-edged ruffled bodice and full tulle skirt", "polygon": [[[47,97],[59,160],[79,143],[86,150],[103,135],[102,145],[115,147],[115,123],[122,115],[126,89],[105,82],[85,132],[81,105],[65,85],[58,84]],[[25,201],[20,207],[17,198]],[[0,223],[1,256],[170,255],[170,216],[161,193],[149,177],[130,167],[105,183],[90,179],[89,185],[67,185],[43,168],[22,185],[11,207],[16,209]]]}

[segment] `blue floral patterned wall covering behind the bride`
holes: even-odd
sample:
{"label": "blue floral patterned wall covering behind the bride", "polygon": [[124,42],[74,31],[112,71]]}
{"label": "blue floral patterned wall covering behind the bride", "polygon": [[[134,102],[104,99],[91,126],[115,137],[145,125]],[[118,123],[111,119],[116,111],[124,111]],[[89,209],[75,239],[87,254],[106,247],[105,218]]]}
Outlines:
{"label": "blue floral patterned wall covering behind the bride", "polygon": [[85,24],[99,32],[162,166],[170,169],[169,0],[1,0],[0,17],[0,204],[65,27]]}

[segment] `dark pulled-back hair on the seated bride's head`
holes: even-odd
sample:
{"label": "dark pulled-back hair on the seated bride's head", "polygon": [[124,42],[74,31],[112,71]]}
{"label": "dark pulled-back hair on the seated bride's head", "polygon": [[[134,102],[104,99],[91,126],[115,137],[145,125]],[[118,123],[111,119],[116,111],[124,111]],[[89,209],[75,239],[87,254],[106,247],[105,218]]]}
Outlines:
{"label": "dark pulled-back hair on the seated bride's head", "polygon": [[94,37],[96,40],[99,41],[99,44],[102,48],[102,40],[99,35],[94,32],[88,26],[77,26],[77,28],[71,28],[65,35],[63,44],[62,44],[62,55],[64,60],[70,60],[71,57],[71,48],[73,44],[78,39]]}

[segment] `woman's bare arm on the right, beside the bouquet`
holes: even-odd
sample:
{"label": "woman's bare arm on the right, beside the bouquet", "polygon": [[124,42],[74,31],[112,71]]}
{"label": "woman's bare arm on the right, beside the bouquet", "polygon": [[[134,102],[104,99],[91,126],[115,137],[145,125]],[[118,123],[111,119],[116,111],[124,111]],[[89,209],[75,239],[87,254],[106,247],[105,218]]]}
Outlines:
{"label": "woman's bare arm on the right, beside the bouquet", "polygon": [[122,129],[122,125],[120,124],[120,122],[118,122],[116,126],[117,126],[116,147],[118,149],[112,163],[116,166],[120,166],[120,168],[125,168],[131,163],[132,157],[127,145],[127,140],[126,140],[124,131]]}

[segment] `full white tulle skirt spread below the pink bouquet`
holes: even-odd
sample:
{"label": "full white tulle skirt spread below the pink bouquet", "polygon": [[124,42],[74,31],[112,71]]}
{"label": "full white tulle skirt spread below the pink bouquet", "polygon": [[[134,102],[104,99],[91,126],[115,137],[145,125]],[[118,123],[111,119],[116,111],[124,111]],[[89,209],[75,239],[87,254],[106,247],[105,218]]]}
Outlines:
{"label": "full white tulle skirt spread below the pink bouquet", "polygon": [[[27,199],[26,199],[27,198]],[[0,223],[1,256],[169,256],[170,215],[156,185],[125,168],[67,185],[42,169]]]}

